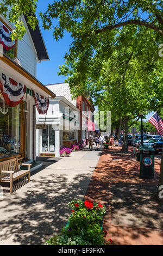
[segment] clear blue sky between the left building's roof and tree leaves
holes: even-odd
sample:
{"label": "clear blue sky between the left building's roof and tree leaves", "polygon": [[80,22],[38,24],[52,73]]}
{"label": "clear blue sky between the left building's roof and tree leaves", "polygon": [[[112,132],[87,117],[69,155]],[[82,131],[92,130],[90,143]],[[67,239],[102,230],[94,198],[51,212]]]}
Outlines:
{"label": "clear blue sky between the left building's roof and tree leaves", "polygon": [[38,2],[36,16],[39,19],[40,29],[50,61],[37,64],[37,79],[43,84],[62,83],[65,82],[65,77],[58,76],[57,72],[59,71],[59,66],[65,64],[64,56],[68,52],[72,39],[69,34],[65,33],[64,38],[57,42],[53,37],[53,29],[44,31],[39,12],[42,11],[43,13],[47,9],[47,3],[53,3],[53,0],[40,0]]}

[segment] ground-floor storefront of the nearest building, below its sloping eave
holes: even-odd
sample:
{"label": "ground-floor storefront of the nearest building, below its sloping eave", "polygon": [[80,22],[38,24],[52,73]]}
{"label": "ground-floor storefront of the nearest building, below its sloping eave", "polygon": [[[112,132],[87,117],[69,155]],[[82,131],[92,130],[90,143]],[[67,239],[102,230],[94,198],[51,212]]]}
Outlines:
{"label": "ground-floor storefront of the nearest building, below its sloping eave", "polygon": [[35,115],[55,95],[8,56],[0,57],[0,161],[35,160]]}

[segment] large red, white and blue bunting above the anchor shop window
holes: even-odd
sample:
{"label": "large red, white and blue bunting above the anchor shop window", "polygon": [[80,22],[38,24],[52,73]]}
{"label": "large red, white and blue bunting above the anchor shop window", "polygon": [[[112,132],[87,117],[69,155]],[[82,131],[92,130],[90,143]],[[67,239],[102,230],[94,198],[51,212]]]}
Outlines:
{"label": "large red, white and blue bunting above the anchor shop window", "polygon": [[23,100],[26,86],[22,86],[21,83],[17,83],[12,78],[7,81],[6,76],[2,74],[2,77],[0,77],[0,90],[5,103],[9,107],[16,107]]}

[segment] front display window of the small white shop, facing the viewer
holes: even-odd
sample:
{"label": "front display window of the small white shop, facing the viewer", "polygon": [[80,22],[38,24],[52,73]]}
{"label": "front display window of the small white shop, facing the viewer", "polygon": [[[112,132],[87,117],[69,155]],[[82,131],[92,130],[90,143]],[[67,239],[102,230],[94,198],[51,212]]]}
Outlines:
{"label": "front display window of the small white shop, facing the viewer", "polygon": [[55,131],[52,125],[42,130],[42,152],[55,152]]}

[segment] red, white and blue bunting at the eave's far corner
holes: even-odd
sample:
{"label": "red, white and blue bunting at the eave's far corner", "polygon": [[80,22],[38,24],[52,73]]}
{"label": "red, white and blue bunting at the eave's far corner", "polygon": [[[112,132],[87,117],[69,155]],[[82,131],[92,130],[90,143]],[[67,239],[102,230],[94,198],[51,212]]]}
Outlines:
{"label": "red, white and blue bunting at the eave's far corner", "polygon": [[36,103],[36,108],[39,114],[42,114],[42,115],[46,114],[49,107],[49,99],[41,96],[38,93],[35,93],[34,90],[33,90],[33,95]]}

